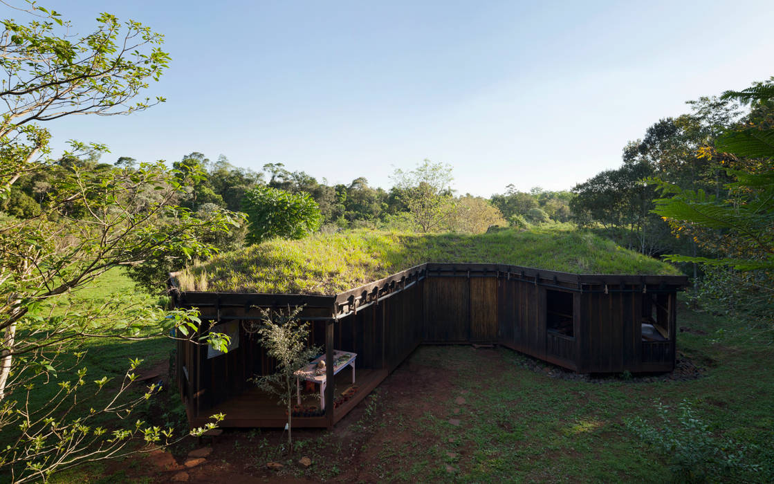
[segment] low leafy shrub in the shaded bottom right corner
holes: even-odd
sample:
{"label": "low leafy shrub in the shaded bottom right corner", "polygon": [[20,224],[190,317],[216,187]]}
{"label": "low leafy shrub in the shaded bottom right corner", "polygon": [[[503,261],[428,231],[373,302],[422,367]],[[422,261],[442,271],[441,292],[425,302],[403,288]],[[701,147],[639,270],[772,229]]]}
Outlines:
{"label": "low leafy shrub in the shaded bottom right corner", "polygon": [[680,482],[723,481],[742,475],[755,480],[760,465],[746,462],[744,445],[715,438],[688,400],[680,402],[676,411],[673,418],[670,406],[656,402],[658,424],[637,417],[626,421],[626,428],[656,448]]}

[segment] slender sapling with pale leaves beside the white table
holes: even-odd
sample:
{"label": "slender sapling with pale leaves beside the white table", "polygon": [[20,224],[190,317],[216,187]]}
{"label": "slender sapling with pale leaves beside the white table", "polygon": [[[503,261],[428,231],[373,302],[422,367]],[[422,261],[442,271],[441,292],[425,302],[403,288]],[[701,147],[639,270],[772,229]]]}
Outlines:
{"label": "slender sapling with pale leaves beside the white table", "polygon": [[256,330],[266,354],[276,361],[276,372],[255,377],[253,381],[262,390],[278,395],[278,403],[285,405],[289,452],[293,452],[293,396],[296,393],[296,377],[293,373],[320,353],[320,348],[307,344],[309,327],[308,323],[301,323],[298,319],[301,309],[288,309],[287,312],[263,309],[262,326]]}

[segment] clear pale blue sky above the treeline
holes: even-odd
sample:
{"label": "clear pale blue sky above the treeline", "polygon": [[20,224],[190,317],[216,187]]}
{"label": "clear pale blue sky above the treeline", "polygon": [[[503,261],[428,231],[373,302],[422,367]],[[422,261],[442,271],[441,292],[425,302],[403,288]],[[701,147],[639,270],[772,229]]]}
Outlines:
{"label": "clear pale blue sky above the treeline", "polygon": [[774,75],[771,0],[41,5],[75,32],[107,11],[166,35],[165,104],[49,125],[106,162],[196,151],[388,188],[430,158],[459,193],[569,189],[684,101]]}

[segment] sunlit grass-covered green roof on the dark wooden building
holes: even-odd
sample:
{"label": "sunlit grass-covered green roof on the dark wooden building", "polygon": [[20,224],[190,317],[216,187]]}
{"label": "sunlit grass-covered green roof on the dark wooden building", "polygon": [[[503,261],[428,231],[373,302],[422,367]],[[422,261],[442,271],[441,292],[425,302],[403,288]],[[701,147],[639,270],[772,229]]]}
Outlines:
{"label": "sunlit grass-covered green roof on the dark wooden building", "polygon": [[425,262],[513,264],[578,274],[680,274],[669,264],[575,230],[426,234],[356,230],[268,240],[194,264],[185,291],[327,294]]}

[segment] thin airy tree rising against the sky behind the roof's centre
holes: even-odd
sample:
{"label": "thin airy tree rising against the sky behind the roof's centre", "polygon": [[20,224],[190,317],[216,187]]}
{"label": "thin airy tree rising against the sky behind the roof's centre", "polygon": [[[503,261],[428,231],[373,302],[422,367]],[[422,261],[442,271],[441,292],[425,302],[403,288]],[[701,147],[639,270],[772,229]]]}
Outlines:
{"label": "thin airy tree rising against the sky behind the roof's centre", "polygon": [[454,211],[450,165],[425,159],[409,172],[396,169],[392,181],[416,226],[422,232],[440,230]]}

